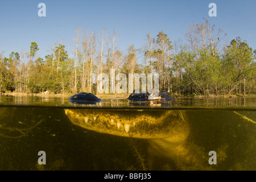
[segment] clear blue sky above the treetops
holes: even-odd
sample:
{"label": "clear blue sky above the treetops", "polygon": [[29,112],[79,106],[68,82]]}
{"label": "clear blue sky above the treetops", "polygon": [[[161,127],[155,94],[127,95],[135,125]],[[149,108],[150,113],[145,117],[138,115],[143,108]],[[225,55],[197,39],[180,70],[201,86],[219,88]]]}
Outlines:
{"label": "clear blue sky above the treetops", "polygon": [[[39,3],[46,5],[46,16],[38,16]],[[217,16],[210,17],[210,3],[217,6]],[[98,42],[103,28],[117,35],[116,46],[122,52],[130,44],[142,48],[147,34],[156,37],[163,31],[172,42],[184,39],[188,26],[207,18],[231,41],[238,36],[256,49],[255,0],[1,0],[0,52],[29,52],[31,42],[39,47],[38,57],[45,58],[55,43],[62,43],[71,53],[76,28],[95,32]],[[71,55],[72,56],[72,55]]]}

